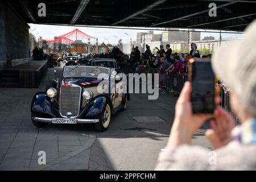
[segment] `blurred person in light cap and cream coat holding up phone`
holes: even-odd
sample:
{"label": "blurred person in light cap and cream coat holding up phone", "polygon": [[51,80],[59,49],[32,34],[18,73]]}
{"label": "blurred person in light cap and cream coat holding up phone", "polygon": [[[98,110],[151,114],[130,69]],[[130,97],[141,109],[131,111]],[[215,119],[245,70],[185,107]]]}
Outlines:
{"label": "blurred person in light cap and cream coat holding up phone", "polygon": [[[175,106],[175,118],[166,148],[160,152],[156,170],[255,170],[256,169],[256,20],[246,28],[243,38],[221,47],[211,61],[212,68],[232,91],[231,105],[241,121],[236,126],[232,115],[218,106],[214,98],[213,113],[195,113],[192,84],[185,82]],[[244,54],[242,54],[243,52]],[[241,63],[241,60],[245,60]],[[193,146],[192,136],[209,119],[208,137],[216,156],[210,150]]]}

